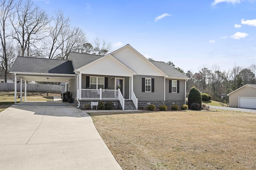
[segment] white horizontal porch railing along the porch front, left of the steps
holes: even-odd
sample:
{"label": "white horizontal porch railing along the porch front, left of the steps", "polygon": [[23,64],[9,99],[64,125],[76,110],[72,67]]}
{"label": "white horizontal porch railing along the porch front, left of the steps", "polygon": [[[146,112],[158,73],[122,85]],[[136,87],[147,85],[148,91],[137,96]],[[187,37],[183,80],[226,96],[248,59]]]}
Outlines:
{"label": "white horizontal porch railing along the porch front, left of the steps", "polygon": [[81,89],[81,99],[118,99],[118,94],[118,90]]}

